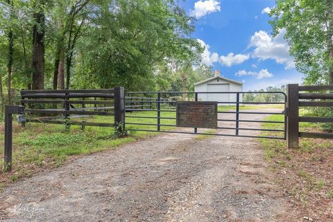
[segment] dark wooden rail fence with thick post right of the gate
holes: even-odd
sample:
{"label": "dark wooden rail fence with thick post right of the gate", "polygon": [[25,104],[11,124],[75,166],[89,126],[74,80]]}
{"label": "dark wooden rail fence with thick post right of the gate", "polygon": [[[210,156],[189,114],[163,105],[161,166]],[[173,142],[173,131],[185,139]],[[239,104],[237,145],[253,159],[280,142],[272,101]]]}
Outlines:
{"label": "dark wooden rail fence with thick post right of the gate", "polygon": [[298,148],[300,137],[333,139],[333,133],[300,132],[301,122],[333,123],[333,117],[300,117],[299,109],[304,107],[333,108],[333,85],[287,85],[288,148]]}

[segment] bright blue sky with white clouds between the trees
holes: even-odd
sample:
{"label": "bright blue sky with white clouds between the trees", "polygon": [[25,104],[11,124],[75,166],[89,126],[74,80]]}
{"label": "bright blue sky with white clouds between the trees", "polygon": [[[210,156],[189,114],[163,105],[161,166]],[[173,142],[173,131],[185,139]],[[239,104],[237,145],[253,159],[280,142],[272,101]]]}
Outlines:
{"label": "bright blue sky with white clouds between the trees", "polygon": [[196,17],[192,37],[205,46],[203,63],[221,75],[244,82],[244,90],[301,83],[284,30],[271,36],[268,12],[273,0],[187,0],[183,8]]}

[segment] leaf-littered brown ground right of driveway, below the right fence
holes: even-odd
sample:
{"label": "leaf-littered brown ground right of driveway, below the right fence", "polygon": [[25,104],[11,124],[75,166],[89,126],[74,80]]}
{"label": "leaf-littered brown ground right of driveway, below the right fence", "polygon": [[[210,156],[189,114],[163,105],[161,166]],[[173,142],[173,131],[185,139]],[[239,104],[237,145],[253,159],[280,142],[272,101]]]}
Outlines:
{"label": "leaf-littered brown ground right of driveway, below the right fence", "polygon": [[286,150],[274,158],[277,182],[291,197],[293,217],[333,221],[333,142],[324,139],[300,142],[301,148]]}

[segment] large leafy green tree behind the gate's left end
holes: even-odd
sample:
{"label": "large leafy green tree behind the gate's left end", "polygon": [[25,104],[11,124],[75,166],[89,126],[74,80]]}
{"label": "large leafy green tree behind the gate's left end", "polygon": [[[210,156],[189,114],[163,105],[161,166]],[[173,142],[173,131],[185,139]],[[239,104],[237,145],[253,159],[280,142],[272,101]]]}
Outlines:
{"label": "large leafy green tree behind the gate's left end", "polygon": [[85,87],[145,90],[153,87],[156,65],[171,58],[195,60],[200,44],[189,37],[194,26],[175,2],[101,1],[78,44],[76,79]]}

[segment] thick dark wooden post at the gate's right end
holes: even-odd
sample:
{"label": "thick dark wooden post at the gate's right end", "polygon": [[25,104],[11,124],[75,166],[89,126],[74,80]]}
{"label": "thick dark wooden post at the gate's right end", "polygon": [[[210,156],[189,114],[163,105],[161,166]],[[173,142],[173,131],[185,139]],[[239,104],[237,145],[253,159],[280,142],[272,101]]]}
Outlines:
{"label": "thick dark wooden post at the gate's right end", "polygon": [[288,148],[298,148],[299,113],[298,113],[298,84],[287,85],[287,144]]}

